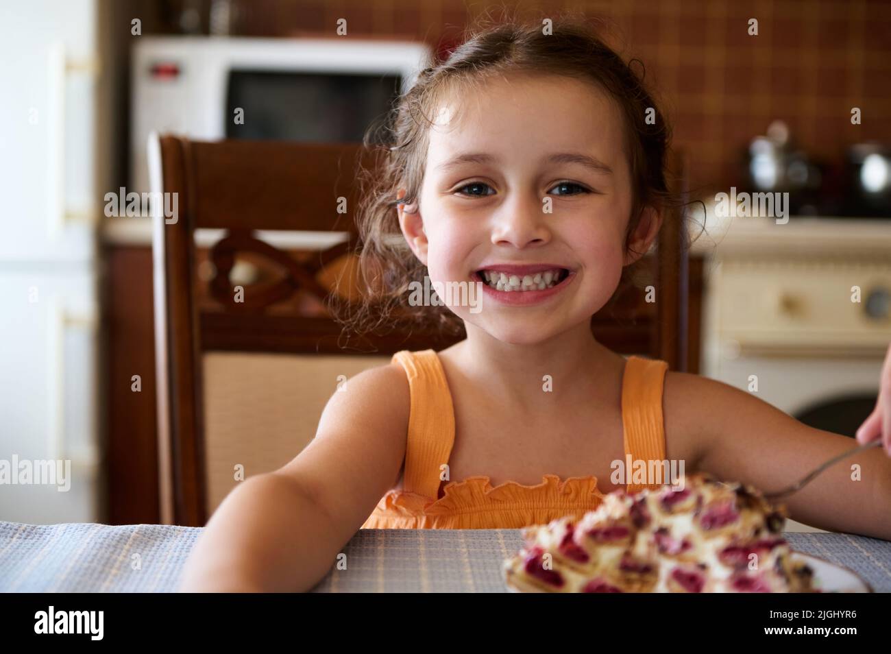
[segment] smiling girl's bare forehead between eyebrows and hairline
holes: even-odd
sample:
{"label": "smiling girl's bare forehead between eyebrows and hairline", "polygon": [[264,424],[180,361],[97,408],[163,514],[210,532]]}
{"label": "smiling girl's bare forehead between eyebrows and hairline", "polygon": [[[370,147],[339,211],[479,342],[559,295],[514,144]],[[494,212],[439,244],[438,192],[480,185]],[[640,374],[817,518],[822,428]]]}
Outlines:
{"label": "smiling girl's bare forehead between eyebrows and hairline", "polygon": [[466,151],[491,152],[510,163],[555,151],[585,151],[614,170],[625,153],[617,102],[578,79],[493,78],[471,86],[462,97],[444,98],[432,119],[430,171]]}

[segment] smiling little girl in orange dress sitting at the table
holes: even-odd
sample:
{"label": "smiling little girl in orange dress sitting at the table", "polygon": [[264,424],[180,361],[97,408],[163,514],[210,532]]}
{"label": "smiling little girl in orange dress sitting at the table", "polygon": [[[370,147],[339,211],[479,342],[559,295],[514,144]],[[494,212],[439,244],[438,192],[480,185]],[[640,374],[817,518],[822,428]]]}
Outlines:
{"label": "smiling little girl in orange dress sitting at the table", "polygon": [[[366,270],[377,262],[384,306],[408,307],[427,275],[479,283],[480,310],[410,307],[461,321],[467,338],[348,380],[303,452],[219,506],[181,590],[307,590],[360,527],[517,528],[674,481],[617,476],[616,462],[679,462],[770,492],[853,445],[594,339],[592,315],[673,199],[664,117],[584,21],[483,29],[396,109],[360,221]],[[891,453],[889,361],[858,440]],[[887,452],[830,468],[789,497],[789,517],[891,539]]]}

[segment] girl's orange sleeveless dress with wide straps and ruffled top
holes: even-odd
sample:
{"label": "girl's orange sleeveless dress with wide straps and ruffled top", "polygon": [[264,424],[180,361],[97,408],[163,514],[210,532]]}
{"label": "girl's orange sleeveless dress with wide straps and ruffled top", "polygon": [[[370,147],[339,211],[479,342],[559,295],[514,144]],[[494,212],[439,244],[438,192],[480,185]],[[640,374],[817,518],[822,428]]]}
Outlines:
{"label": "girl's orange sleeveless dress with wide straps and ruffled top", "polygon": [[[541,484],[505,481],[493,487],[486,476],[450,481],[437,499],[440,466],[454,445],[454,409],[446,374],[432,350],[393,355],[408,376],[411,405],[402,489],[388,491],[365,520],[364,529],[517,529],[596,509],[603,494],[596,477],[545,474]],[[662,388],[668,365],[630,356],[622,379],[625,455],[664,460]],[[629,484],[629,493],[643,485]]]}

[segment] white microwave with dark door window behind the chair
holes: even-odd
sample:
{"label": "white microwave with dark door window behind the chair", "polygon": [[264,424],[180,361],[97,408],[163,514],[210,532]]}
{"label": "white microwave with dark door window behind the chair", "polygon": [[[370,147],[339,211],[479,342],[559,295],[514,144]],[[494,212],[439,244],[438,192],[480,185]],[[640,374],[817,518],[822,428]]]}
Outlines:
{"label": "white microwave with dark door window behind the chair", "polygon": [[429,45],[383,39],[139,37],[128,190],[149,191],[152,132],[361,142],[432,58]]}

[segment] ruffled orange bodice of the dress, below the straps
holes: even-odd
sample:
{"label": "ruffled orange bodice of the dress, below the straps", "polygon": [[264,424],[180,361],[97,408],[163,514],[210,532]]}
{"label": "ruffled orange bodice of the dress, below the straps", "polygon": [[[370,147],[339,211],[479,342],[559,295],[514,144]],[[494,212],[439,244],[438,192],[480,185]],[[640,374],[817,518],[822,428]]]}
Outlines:
{"label": "ruffled orange bodice of the dress, below the straps", "polygon": [[544,475],[541,484],[505,481],[492,486],[488,476],[469,477],[443,486],[432,500],[405,490],[380,499],[364,529],[519,529],[573,515],[581,518],[603,499],[596,477]]}

